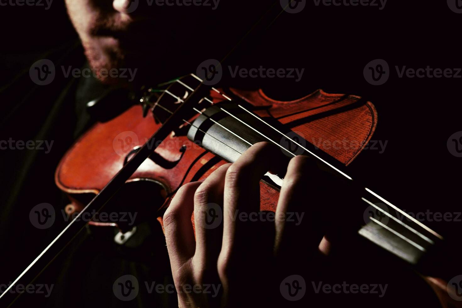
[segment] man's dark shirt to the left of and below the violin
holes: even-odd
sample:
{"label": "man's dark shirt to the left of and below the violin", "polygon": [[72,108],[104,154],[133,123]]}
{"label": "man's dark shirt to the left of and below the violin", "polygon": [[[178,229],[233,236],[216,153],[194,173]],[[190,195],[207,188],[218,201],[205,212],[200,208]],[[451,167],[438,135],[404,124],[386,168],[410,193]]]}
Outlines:
{"label": "man's dark shirt to the left of and below the violin", "polygon": [[[61,211],[69,200],[55,185],[55,169],[75,139],[97,121],[98,116],[89,112],[86,103],[108,91],[92,77],[66,78],[62,72],[61,66],[88,67],[79,42],[41,58],[55,64],[55,79],[49,85],[34,84],[29,66],[35,60],[21,59],[24,69],[13,66],[14,72],[20,73],[0,92],[1,139],[11,140],[12,145],[1,151],[1,284],[13,281],[66,226]],[[20,150],[20,140],[32,140],[36,146]],[[30,222],[30,210],[41,203],[55,209],[55,223],[48,229],[37,229]],[[45,288],[44,294],[24,293],[15,306],[159,307],[168,306],[168,299],[176,303],[175,295],[148,293],[154,282],[171,283],[164,236],[155,218],[139,227],[126,245],[114,242],[113,228],[98,229],[81,232],[34,282],[53,285],[49,296]],[[133,244],[140,242],[136,236],[143,239],[141,244]],[[113,293],[113,284],[127,274],[137,277],[140,285],[137,298],[130,302]]]}

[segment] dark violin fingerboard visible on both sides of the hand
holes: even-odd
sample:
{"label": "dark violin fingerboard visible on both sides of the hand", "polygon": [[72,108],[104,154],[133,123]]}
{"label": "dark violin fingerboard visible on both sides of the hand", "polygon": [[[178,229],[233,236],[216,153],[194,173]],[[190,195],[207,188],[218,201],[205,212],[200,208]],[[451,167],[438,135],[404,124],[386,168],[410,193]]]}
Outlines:
{"label": "dark violin fingerboard visible on both sides of the hand", "polygon": [[[223,112],[223,109],[228,113]],[[202,147],[228,162],[236,161],[241,153],[249,148],[249,143],[255,144],[268,141],[268,139],[280,143],[280,134],[286,132],[279,122],[271,122],[270,119],[265,118],[264,121],[270,125],[261,125],[261,120],[244,110],[239,108],[235,102],[215,104],[204,110],[194,121],[188,131],[188,138],[200,142]],[[258,132],[251,127],[258,127]],[[245,140],[237,139],[236,134],[245,136]],[[217,141],[212,136],[219,136],[219,140]],[[300,136],[298,138],[298,140],[303,139]],[[306,140],[303,144],[306,144],[305,147],[310,146]],[[310,155],[306,151],[303,154]],[[319,151],[316,152],[316,155],[318,154],[322,156]],[[322,159],[328,160],[329,158],[322,156]],[[345,169],[338,162],[329,162],[328,165],[339,170]],[[269,179],[265,176],[264,181],[275,188],[280,188],[281,184],[273,178]],[[358,211],[353,211],[356,217],[353,217],[351,213],[348,214],[351,222],[354,222],[351,224],[355,234],[359,234],[391,255],[406,261],[424,275],[448,278],[444,265],[451,262],[447,260],[449,254],[440,253],[442,249],[447,250],[444,247],[442,236],[377,193],[364,188],[358,181],[351,182],[353,190],[358,192],[357,202],[352,207],[358,209]]]}

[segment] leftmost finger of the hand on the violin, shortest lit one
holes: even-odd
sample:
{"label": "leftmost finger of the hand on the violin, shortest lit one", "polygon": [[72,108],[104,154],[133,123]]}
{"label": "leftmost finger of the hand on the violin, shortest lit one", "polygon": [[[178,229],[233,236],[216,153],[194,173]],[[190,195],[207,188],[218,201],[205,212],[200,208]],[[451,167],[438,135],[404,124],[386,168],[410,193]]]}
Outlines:
{"label": "leftmost finger of the hand on the violin, shortest lit one", "polygon": [[194,210],[194,193],[201,182],[191,182],[178,189],[164,214],[165,241],[170,257],[173,277],[176,270],[194,255],[195,239],[191,223]]}

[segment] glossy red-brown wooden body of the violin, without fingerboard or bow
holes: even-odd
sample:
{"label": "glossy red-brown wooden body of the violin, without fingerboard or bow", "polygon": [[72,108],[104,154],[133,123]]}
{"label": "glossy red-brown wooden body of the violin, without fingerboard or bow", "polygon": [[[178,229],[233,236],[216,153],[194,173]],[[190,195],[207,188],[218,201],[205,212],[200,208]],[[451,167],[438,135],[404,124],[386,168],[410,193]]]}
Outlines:
{"label": "glossy red-brown wooden body of the violin, without fingerboard or bow", "polygon": [[[322,150],[318,151],[324,151],[343,165],[351,163],[357,157],[377,126],[374,105],[352,95],[328,94],[317,90],[298,100],[282,102],[267,97],[261,90],[229,89],[225,97],[247,103],[256,115],[278,121],[282,127],[302,136],[304,142],[317,143],[318,146],[321,144]],[[210,92],[210,100],[214,104],[226,101],[225,97],[217,91]],[[162,102],[162,97],[159,101]],[[161,111],[158,108],[156,110]],[[156,110],[153,110],[154,114]],[[200,142],[188,139],[190,123],[197,117],[198,114],[192,115],[187,120],[189,124],[182,125],[164,139],[151,159],[146,159],[127,181],[132,187],[143,183],[147,186],[143,189],[150,189],[152,194],[158,194],[156,202],[151,199],[141,206],[145,210],[146,207],[149,208],[151,214],[157,213],[156,217],[161,223],[161,210],[169,205],[179,187],[204,179],[213,170],[227,163],[222,157],[201,147]],[[145,144],[160,126],[162,123],[154,117],[143,117],[142,107],[135,105],[109,121],[96,123],[78,139],[62,158],[55,173],[56,185],[72,201],[66,208],[67,213],[81,211],[89,201],[88,195],[99,193],[123,167],[131,152]],[[341,146],[342,143],[353,146]],[[125,199],[131,198],[132,202],[117,207],[133,211],[140,192],[135,189],[128,194]],[[261,182],[261,210],[275,211],[278,197],[277,188]],[[114,199],[117,202],[120,198]],[[106,210],[111,211],[107,208]],[[116,225],[96,221],[91,221],[90,224]],[[126,231],[128,227],[119,228]]]}

